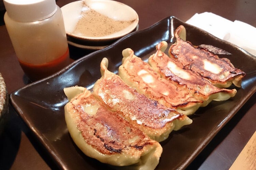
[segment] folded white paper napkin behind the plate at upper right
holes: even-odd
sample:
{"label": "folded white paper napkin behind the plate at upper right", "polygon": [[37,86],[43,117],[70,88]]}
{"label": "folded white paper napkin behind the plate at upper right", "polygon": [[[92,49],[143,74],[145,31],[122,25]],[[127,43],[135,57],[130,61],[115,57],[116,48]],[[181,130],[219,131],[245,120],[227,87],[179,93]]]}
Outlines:
{"label": "folded white paper napkin behind the plate at upper right", "polygon": [[196,13],[186,23],[229,41],[256,56],[256,28],[247,23],[238,20],[233,22],[210,12]]}

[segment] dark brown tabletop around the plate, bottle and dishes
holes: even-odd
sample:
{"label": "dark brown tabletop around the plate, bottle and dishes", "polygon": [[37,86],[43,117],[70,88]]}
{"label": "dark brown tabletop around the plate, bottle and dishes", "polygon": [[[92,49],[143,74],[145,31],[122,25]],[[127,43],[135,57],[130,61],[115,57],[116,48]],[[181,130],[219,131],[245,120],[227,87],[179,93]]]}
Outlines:
{"label": "dark brown tabletop around the plate, bottle and dishes", "polygon": [[[256,27],[255,0],[119,0],[139,15],[139,30],[168,16],[186,21],[195,13],[212,12],[231,21]],[[63,6],[71,0],[57,0]],[[11,40],[2,21],[0,26],[0,73],[8,93],[31,83],[19,66]],[[246,36],[246,35],[245,35]],[[80,58],[90,51],[72,46],[70,56]],[[73,62],[70,59],[70,62]],[[255,67],[256,68],[256,67]],[[256,130],[256,94],[213,138],[187,169],[229,169]],[[0,169],[56,169],[55,163],[9,104],[8,122],[0,137]]]}

